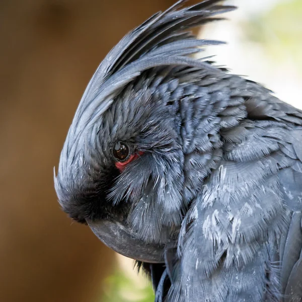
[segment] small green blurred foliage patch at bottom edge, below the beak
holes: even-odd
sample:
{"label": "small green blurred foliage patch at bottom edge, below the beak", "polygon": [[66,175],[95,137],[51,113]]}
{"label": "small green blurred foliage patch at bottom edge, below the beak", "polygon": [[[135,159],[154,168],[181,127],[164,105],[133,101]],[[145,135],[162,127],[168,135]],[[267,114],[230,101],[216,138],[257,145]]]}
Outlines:
{"label": "small green blurred foliage patch at bottom edge, below the beak", "polygon": [[102,302],[154,302],[151,284],[137,286],[135,281],[120,270],[116,270],[105,282]]}

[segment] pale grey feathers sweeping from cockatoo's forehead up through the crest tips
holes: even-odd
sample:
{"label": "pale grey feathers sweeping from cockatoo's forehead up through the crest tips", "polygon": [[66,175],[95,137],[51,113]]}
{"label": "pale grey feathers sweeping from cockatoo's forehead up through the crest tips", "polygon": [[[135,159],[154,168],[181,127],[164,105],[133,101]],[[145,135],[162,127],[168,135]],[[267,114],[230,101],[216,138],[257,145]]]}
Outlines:
{"label": "pale grey feathers sweeping from cockatoo's forehead up through the crest tips", "polygon": [[85,133],[96,132],[96,125],[104,112],[125,86],[144,70],[170,65],[222,72],[205,60],[189,56],[201,51],[202,46],[221,42],[198,40],[189,30],[220,20],[221,18],[215,17],[217,14],[234,10],[235,7],[220,6],[217,4],[219,0],[205,0],[182,8],[185,2],[186,0],[178,1],[164,13],[155,14],[129,32],[97,68],[75,112],[62,149],[58,175],[55,178],[58,196],[60,191],[66,189],[66,182],[72,182],[75,186],[75,182],[80,181],[79,174],[85,163],[83,154],[93,152],[88,150],[89,142]]}

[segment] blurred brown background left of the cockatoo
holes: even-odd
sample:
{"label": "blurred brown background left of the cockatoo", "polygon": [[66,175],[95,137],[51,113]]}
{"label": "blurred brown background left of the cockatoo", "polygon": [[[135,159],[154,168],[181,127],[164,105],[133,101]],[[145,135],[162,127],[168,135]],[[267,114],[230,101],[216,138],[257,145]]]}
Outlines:
{"label": "blurred brown background left of the cockatoo", "polygon": [[106,53],[173,0],[0,2],[0,301],[100,301],[114,254],[60,211],[68,126]]}

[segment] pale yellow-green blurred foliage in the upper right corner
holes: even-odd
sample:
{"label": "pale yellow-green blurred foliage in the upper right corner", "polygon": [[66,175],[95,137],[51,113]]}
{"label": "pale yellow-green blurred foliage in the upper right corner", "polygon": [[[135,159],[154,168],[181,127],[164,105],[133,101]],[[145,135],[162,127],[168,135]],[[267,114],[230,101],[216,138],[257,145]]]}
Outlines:
{"label": "pale yellow-green blurred foliage in the upper right corner", "polygon": [[260,43],[273,60],[291,61],[302,69],[302,1],[277,4],[243,25],[244,35]]}

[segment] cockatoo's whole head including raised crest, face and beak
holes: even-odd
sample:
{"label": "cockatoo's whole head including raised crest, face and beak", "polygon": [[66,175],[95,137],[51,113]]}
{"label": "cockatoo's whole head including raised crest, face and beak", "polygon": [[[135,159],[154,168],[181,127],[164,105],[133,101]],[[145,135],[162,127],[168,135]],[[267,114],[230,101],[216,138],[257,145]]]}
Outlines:
{"label": "cockatoo's whole head including raised crest, face and beak", "polygon": [[194,91],[186,91],[184,71],[214,69],[188,57],[214,42],[183,31],[230,9],[204,1],[177,10],[183,2],[130,32],[100,64],[69,128],[54,180],[71,218],[87,222],[118,253],[147,262],[163,262],[190,201],[184,194],[180,107]]}

